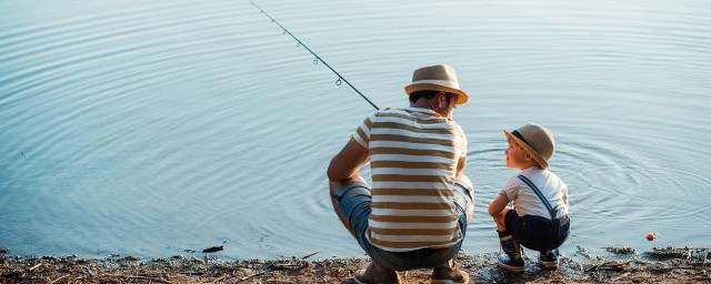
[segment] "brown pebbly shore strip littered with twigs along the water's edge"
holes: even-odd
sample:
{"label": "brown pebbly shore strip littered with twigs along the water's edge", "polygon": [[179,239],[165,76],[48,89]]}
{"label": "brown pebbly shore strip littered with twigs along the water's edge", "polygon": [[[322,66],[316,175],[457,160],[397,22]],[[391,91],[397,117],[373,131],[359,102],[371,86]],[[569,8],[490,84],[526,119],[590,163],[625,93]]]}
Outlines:
{"label": "brown pebbly shore strip littered with twigs along the water's edge", "polygon": [[[607,252],[594,255],[579,247],[574,257],[563,255],[560,268],[552,272],[540,270],[537,256],[530,255],[521,274],[500,271],[494,253],[460,253],[458,262],[470,274],[470,283],[711,283],[708,248],[634,252],[630,247],[607,247]],[[354,283],[353,273],[368,264],[364,258],[316,260],[318,253],[238,262],[216,260],[209,254],[200,258],[176,255],[153,260],[130,255],[84,260],[7,254],[0,254],[0,283]],[[427,283],[430,273],[417,270],[400,275],[403,283]]]}

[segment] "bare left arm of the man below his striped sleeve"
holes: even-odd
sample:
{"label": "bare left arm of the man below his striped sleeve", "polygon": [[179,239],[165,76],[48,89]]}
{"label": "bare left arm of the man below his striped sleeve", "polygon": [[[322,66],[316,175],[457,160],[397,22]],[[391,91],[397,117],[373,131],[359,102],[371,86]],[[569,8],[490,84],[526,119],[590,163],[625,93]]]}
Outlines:
{"label": "bare left arm of the man below his striped sleeve", "polygon": [[341,152],[331,159],[327,171],[329,181],[346,181],[359,176],[358,171],[365,162],[368,162],[368,149],[351,139]]}

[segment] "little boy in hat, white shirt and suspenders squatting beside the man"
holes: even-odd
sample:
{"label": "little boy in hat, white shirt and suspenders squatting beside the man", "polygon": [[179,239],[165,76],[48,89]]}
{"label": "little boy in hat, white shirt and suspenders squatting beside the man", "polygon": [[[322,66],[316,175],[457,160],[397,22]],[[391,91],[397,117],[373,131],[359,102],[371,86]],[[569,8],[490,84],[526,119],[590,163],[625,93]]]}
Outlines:
{"label": "little boy in hat, white shirt and suspenders squatting beside the man", "polygon": [[[558,247],[570,231],[568,186],[548,171],[548,161],[555,151],[553,133],[539,124],[527,123],[503,131],[509,148],[507,166],[520,170],[507,181],[499,196],[489,204],[489,214],[497,222],[497,232],[504,254],[498,265],[511,272],[523,271],[521,246],[539,251],[539,264],[558,268]],[[538,191],[538,192],[537,192]],[[514,209],[507,206],[514,203]]]}

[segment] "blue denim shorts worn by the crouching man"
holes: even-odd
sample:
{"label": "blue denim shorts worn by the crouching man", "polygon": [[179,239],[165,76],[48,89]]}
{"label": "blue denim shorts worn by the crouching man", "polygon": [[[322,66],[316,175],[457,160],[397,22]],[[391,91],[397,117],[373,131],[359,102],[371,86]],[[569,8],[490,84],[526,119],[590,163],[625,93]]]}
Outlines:
{"label": "blue denim shorts worn by the crouching man", "polygon": [[454,184],[454,205],[459,213],[459,227],[462,232],[462,241],[457,245],[443,248],[420,248],[410,252],[389,252],[372,245],[365,236],[368,217],[370,216],[370,203],[372,196],[370,186],[365,183],[353,182],[338,191],[336,200],[348,220],[351,231],[356,233],[358,244],[380,265],[393,271],[409,271],[417,268],[430,268],[444,264],[453,258],[462,246],[463,236],[467,235],[467,212],[473,212],[474,189],[457,181]]}

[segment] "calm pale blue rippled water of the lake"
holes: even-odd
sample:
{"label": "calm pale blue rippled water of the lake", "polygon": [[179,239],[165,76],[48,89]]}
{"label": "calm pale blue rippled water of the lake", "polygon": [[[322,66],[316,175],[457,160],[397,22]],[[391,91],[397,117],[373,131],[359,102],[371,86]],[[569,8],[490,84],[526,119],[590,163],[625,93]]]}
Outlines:
{"label": "calm pale blue rippled water of the lake", "polygon": [[[465,253],[498,251],[501,130],[528,121],[570,186],[563,252],[711,246],[707,1],[258,3],[381,108],[407,104],[415,68],[457,69]],[[2,1],[0,246],[362,256],[326,168],[373,109],[312,60],[247,1]]]}

